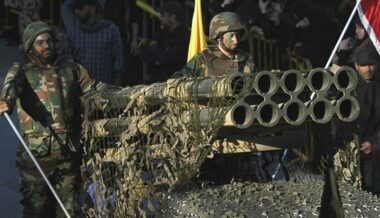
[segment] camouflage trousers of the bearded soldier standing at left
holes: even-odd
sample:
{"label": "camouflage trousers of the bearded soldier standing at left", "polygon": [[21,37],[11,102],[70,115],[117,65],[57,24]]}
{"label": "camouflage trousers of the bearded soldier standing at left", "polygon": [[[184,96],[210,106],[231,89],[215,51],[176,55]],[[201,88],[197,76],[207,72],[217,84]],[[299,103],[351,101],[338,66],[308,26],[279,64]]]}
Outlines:
{"label": "camouflage trousers of the bearded soldier standing at left", "polygon": [[[62,146],[71,144],[69,136],[67,134],[50,134],[26,137],[25,140],[68,213],[75,217],[74,205],[79,181],[79,163],[71,153],[63,155],[61,152]],[[21,147],[17,152],[16,164],[20,170],[23,217],[66,217],[62,209],[55,203],[56,200],[41,174]]]}

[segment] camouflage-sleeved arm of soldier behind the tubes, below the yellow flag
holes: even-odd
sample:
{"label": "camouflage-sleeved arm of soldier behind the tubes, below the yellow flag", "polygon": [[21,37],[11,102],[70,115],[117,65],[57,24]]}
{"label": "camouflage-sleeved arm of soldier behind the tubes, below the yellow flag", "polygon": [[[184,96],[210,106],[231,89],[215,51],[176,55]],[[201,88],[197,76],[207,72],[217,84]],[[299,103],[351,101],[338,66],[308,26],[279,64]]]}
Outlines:
{"label": "camouflage-sleeved arm of soldier behind the tubes, below the yellow flag", "polygon": [[204,74],[204,64],[203,55],[198,53],[181,70],[175,72],[171,78],[201,76]]}

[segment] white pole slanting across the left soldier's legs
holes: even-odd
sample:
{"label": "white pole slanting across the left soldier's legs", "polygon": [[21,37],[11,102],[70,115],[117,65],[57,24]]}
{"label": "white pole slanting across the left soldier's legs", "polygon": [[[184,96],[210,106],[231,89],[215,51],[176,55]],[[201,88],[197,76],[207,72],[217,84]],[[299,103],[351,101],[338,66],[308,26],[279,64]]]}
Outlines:
{"label": "white pole slanting across the left soldier's legs", "polygon": [[24,141],[24,139],[21,137],[20,133],[18,132],[17,128],[15,127],[15,125],[13,124],[11,118],[9,117],[8,113],[4,113],[5,115],[5,118],[7,118],[8,120],[8,123],[11,125],[13,131],[16,133],[18,139],[20,140],[21,144],[24,146],[26,152],[29,154],[30,158],[32,159],[34,165],[36,165],[38,171],[40,172],[40,174],[42,175],[42,177],[44,178],[46,184],[49,186],[49,189],[50,191],[53,193],[55,199],[58,201],[59,203],[59,206],[61,206],[63,212],[65,213],[66,217],[68,218],[71,218],[71,216],[69,215],[69,213],[67,212],[65,206],[63,205],[61,199],[58,197],[57,193],[55,192],[53,186],[51,185],[49,179],[47,178],[47,176],[45,175],[44,171],[42,170],[42,168],[40,167],[40,165],[38,164],[37,160],[34,158],[32,152],[30,151],[28,145],[26,144],[26,142]]}

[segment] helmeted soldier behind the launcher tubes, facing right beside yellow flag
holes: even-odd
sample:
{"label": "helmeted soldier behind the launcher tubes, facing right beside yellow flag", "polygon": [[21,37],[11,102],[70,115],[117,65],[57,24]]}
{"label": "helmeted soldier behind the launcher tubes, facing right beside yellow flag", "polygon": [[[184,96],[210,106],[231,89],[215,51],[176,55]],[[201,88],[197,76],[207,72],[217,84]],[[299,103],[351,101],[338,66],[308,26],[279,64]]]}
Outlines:
{"label": "helmeted soldier behind the launcher tubes, facing right beside yellow flag", "polygon": [[207,49],[196,54],[173,77],[252,73],[252,57],[238,50],[239,40],[244,32],[245,27],[236,13],[222,12],[215,15],[210,22],[209,38],[214,40],[216,45],[209,45]]}

